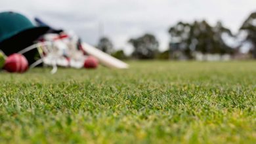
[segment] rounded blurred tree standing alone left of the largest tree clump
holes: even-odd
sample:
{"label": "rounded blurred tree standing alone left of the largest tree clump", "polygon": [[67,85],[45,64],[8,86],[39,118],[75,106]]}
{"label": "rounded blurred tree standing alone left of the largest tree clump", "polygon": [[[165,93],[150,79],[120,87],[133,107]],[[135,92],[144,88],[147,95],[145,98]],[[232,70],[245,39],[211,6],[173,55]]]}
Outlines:
{"label": "rounded blurred tree standing alone left of the largest tree clump", "polygon": [[137,39],[130,39],[129,43],[133,45],[134,52],[132,56],[138,59],[153,59],[158,52],[158,40],[152,34],[146,33]]}

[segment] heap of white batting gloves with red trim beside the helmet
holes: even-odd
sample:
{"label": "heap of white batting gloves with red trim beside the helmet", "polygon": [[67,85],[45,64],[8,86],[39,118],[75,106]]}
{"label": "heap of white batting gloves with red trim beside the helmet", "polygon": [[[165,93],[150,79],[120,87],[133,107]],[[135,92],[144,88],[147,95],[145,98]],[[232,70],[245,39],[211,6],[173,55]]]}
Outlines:
{"label": "heap of white batting gloves with red trim beside the helmet", "polygon": [[44,35],[43,39],[51,43],[49,46],[41,46],[41,58],[46,65],[55,62],[62,67],[83,67],[86,56],[77,47],[77,37],[72,37],[68,33],[51,33]]}

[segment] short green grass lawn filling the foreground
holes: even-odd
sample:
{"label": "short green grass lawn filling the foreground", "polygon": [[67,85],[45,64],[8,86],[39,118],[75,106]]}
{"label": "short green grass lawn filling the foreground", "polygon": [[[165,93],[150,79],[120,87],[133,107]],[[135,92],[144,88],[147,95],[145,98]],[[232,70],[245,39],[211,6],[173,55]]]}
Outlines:
{"label": "short green grass lawn filling the foreground", "polygon": [[256,143],[256,62],[0,73],[0,143]]}

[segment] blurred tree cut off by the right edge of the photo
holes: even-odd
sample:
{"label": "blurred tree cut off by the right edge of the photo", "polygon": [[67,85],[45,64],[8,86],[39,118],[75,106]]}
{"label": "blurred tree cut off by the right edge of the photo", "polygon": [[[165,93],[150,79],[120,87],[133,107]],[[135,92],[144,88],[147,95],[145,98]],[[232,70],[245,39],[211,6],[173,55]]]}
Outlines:
{"label": "blurred tree cut off by the right edge of the photo", "polygon": [[256,12],[249,15],[242,27],[240,27],[240,31],[247,32],[244,42],[251,43],[250,51],[253,54],[253,58],[256,58]]}

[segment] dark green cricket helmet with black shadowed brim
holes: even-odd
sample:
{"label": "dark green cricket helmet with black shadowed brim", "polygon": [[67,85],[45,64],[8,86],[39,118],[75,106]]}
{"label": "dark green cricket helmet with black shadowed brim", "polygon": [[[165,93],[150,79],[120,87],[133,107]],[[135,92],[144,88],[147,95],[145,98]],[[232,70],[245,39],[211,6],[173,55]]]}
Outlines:
{"label": "dark green cricket helmet with black shadowed brim", "polygon": [[[0,50],[7,56],[33,45],[41,35],[47,33],[49,27],[36,27],[26,16],[16,12],[0,12]],[[35,53],[35,52],[33,52]],[[32,53],[25,54],[26,58]],[[32,61],[32,60],[31,60]]]}

